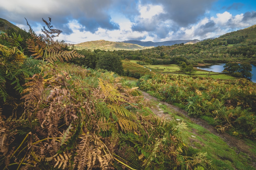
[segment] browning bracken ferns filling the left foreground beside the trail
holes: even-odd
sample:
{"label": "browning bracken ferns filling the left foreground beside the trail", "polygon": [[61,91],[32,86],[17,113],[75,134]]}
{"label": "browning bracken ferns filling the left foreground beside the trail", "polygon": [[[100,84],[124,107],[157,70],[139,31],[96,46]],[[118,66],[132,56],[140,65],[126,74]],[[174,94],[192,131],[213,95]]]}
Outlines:
{"label": "browning bracken ferns filling the left foreground beside the trail", "polygon": [[[40,36],[28,24],[32,58],[13,48],[12,38],[0,37],[8,42],[0,45],[1,169],[214,168],[206,153],[186,152],[184,122],[152,114],[118,75],[65,63],[83,56],[54,41],[61,31],[50,18],[43,22]],[[99,59],[111,54],[98,53]]]}

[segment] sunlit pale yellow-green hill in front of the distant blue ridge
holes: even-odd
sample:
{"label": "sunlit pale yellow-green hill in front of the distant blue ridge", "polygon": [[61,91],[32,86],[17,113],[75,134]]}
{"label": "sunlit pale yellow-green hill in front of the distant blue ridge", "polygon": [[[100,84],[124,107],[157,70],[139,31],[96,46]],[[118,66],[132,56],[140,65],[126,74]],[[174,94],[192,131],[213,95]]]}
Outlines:
{"label": "sunlit pale yellow-green hill in front of the distant blue ridge", "polygon": [[100,50],[140,50],[146,48],[153,48],[151,47],[143,47],[137,44],[131,43],[124,43],[124,42],[113,42],[113,41],[105,41],[105,40],[98,40],[98,41],[87,41],[84,43],[79,43],[74,45],[76,49],[100,49]]}

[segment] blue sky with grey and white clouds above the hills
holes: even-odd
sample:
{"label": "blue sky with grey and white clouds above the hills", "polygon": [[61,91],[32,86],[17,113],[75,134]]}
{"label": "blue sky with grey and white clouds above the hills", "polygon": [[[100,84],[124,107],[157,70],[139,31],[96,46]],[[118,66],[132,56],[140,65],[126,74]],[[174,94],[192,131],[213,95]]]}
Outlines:
{"label": "blue sky with grey and white clouds above the hills", "polygon": [[59,41],[202,40],[256,24],[255,0],[5,0],[0,18],[41,33],[42,18]]}

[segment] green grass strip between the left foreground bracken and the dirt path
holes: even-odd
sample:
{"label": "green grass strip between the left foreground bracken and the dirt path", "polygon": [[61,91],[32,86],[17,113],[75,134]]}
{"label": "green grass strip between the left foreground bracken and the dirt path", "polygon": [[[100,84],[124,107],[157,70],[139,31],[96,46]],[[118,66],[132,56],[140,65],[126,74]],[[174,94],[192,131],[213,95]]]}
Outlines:
{"label": "green grass strip between the left foreground bracken and the dirt path", "polygon": [[[158,105],[158,101],[151,101],[151,104]],[[249,156],[243,152],[239,152],[237,148],[230,147],[223,139],[209,132],[204,127],[193,123],[183,114],[174,111],[172,108],[162,104],[159,106],[164,113],[168,113],[178,119],[187,123],[189,130],[184,131],[182,136],[186,143],[188,143],[188,154],[196,154],[197,152],[207,152],[208,160],[215,169],[255,169],[250,164],[254,160],[250,160]],[[209,120],[213,121],[213,120]],[[249,146],[253,148],[253,153],[256,153],[255,141],[246,140]]]}

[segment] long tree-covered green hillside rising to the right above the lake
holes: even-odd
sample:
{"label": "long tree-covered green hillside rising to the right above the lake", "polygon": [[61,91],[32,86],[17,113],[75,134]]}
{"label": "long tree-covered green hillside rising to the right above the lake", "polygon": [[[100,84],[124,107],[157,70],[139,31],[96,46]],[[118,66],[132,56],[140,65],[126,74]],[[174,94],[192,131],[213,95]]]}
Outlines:
{"label": "long tree-covered green hillside rising to the right above the lake", "polygon": [[123,59],[141,60],[153,65],[180,64],[183,61],[187,65],[212,61],[256,64],[256,25],[196,44],[176,44],[115,53],[123,56]]}

